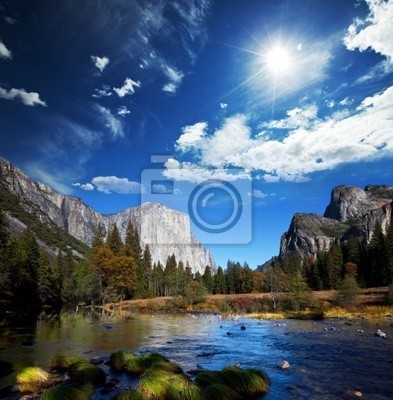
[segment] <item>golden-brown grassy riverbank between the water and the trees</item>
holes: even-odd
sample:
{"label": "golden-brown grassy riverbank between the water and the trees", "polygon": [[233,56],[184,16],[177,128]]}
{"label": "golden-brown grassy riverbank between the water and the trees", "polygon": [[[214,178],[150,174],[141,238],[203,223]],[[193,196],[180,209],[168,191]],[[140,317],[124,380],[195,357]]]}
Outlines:
{"label": "golden-brown grassy riverbank between the water and the trees", "polygon": [[217,312],[259,319],[389,318],[393,317],[393,306],[385,304],[386,293],[386,287],[361,289],[356,303],[344,308],[337,305],[335,290],[311,292],[308,305],[296,311],[285,308],[287,293],[275,293],[274,297],[271,293],[208,295],[198,302],[183,297],[157,297],[108,303],[103,309],[122,318],[152,312]]}

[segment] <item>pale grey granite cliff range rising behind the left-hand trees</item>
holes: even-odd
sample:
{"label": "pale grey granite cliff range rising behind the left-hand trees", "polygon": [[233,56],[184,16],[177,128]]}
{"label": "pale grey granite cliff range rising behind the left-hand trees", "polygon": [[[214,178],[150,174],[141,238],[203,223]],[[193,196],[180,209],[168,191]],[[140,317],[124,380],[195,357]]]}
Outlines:
{"label": "pale grey granite cliff range rising behind the left-hand trees", "polygon": [[[117,214],[103,215],[80,198],[62,195],[48,185],[31,180],[20,169],[1,158],[0,189],[3,197],[9,198],[9,203],[18,202],[12,207],[18,208],[19,214],[27,213],[41,225],[60,228],[85,246],[91,245],[99,223],[107,232],[116,224],[124,238],[127,223],[131,220],[139,230],[142,247],[149,245],[153,262],[165,264],[167,257],[175,254],[178,261],[188,262],[194,273],[203,273],[207,265],[215,269],[210,252],[192,235],[188,215],[161,204],[145,203]],[[18,219],[18,213],[8,211],[14,220],[13,226],[25,225]]]}

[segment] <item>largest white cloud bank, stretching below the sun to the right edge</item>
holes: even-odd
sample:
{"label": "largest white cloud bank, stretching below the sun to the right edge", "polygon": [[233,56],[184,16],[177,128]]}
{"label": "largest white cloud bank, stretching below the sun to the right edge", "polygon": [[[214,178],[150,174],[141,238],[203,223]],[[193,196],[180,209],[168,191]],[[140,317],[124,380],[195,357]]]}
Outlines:
{"label": "largest white cloud bank, stretching below the sun to the right edge", "polygon": [[393,156],[393,86],[367,97],[352,114],[341,113],[340,118],[337,114],[319,118],[315,106],[293,109],[287,115],[265,123],[272,130],[288,129],[280,140],[274,135],[253,137],[244,115],[225,119],[212,134],[191,142],[193,163],[176,161],[175,168],[172,161],[168,175],[195,182],[198,174],[238,167],[254,171],[266,182],[306,182],[313,172]]}

